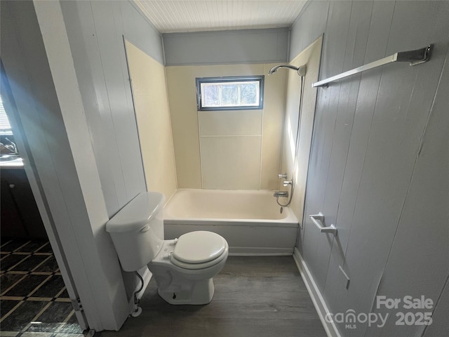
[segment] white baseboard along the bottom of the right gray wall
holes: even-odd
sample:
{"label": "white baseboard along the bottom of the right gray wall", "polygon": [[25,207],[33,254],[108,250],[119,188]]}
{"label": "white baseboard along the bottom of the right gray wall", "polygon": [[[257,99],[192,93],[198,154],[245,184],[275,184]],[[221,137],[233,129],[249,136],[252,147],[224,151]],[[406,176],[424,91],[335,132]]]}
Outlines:
{"label": "white baseboard along the bottom of the right gray wall", "polygon": [[295,252],[293,253],[293,259],[295,260],[297,269],[300,270],[302,280],[307,287],[307,291],[309,291],[311,300],[315,305],[316,312],[318,312],[321,324],[323,324],[324,330],[326,331],[328,337],[341,337],[340,333],[337,330],[337,326],[335,326],[335,323],[326,322],[326,319],[324,319],[324,317],[326,317],[326,315],[330,313],[328,310],[328,306],[326,305],[326,302],[324,301],[324,298],[321,295],[318,286],[316,286],[314,277],[311,275],[309,268],[307,268],[307,264],[302,258],[300,251],[296,247]]}

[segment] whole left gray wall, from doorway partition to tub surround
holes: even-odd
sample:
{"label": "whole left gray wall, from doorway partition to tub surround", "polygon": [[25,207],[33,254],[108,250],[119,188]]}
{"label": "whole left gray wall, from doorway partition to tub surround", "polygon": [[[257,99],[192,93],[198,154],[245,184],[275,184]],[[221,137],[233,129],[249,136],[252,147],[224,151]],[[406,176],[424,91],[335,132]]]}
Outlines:
{"label": "whole left gray wall, from doorway partition to tub surround", "polygon": [[[128,316],[127,300],[132,298],[138,279],[131,273],[122,275],[104,226],[130,199],[146,190],[123,35],[163,64],[160,34],[129,1],[60,1],[60,4],[1,1],[1,4],[1,58],[13,84],[18,120],[22,120],[23,138],[28,138],[29,157],[34,157],[36,179],[48,200],[49,215],[58,230],[74,281],[81,289],[88,323],[98,331],[119,329]],[[43,46],[43,26],[39,26],[34,11],[39,7],[45,13],[46,6],[53,11],[59,6],[62,9],[64,22],[58,16],[60,12],[52,20],[43,20],[54,25],[49,29],[51,32],[58,32],[60,23],[65,25],[71,52],[68,58],[70,61],[73,58],[76,72],[74,79],[67,67],[67,83],[76,81],[81,93],[83,107],[72,108],[85,114],[86,119],[84,116],[81,119],[88,132],[85,128],[86,136],[75,142],[67,138],[69,130],[77,125],[62,119],[67,117],[68,110],[60,106],[62,99],[58,102],[55,91],[64,90],[53,84],[58,74],[51,72],[48,65],[48,60],[55,60],[60,53],[61,67],[67,66],[67,49],[61,46],[55,51],[48,48],[49,44]],[[4,8],[11,13],[4,13]],[[64,34],[62,30],[60,33]],[[11,41],[16,41],[20,48]],[[75,91],[73,97],[79,97]],[[81,151],[86,153],[86,160],[83,156],[76,157],[74,149],[86,143],[89,146]],[[86,168],[88,174],[83,175]],[[83,190],[82,182],[89,178],[92,181],[99,178],[101,189],[96,192],[100,195],[93,197],[94,194]],[[93,295],[88,293],[91,289]],[[96,316],[97,320],[90,319]]]}

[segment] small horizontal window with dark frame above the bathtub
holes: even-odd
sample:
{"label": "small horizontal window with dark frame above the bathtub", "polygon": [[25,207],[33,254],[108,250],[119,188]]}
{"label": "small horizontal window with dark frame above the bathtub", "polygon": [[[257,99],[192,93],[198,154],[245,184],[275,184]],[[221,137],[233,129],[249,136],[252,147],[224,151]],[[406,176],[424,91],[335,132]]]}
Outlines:
{"label": "small horizontal window with dark frame above the bathtub", "polygon": [[262,109],[264,76],[196,79],[198,110]]}

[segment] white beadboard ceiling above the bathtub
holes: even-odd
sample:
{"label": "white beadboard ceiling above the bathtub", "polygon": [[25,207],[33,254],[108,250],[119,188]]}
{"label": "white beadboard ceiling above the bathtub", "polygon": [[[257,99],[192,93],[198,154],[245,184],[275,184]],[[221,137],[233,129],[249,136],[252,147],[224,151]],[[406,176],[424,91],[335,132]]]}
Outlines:
{"label": "white beadboard ceiling above the bathtub", "polygon": [[133,0],[161,33],[290,27],[304,0]]}

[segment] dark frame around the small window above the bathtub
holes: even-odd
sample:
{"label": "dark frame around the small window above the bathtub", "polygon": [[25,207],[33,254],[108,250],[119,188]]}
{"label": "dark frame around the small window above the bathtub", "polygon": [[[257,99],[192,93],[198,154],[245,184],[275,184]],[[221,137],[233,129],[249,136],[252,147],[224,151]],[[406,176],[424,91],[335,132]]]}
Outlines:
{"label": "dark frame around the small window above the bathtub", "polygon": [[[232,77],[196,77],[196,109],[198,111],[220,111],[220,110],[262,110],[264,106],[264,75],[232,76]],[[201,84],[227,82],[259,82],[259,105],[239,105],[234,107],[203,107],[201,96]]]}

